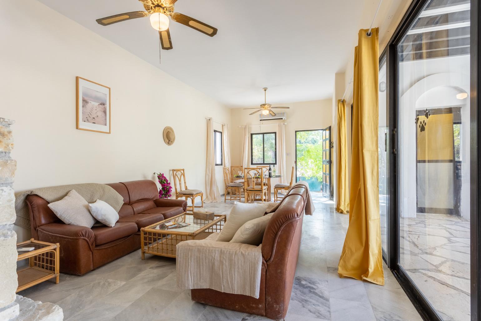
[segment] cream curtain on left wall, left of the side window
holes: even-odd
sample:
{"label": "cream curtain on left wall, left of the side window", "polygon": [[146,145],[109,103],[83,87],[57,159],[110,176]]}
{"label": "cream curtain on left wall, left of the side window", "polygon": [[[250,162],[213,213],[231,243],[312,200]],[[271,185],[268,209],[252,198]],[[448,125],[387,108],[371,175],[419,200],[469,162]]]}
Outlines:
{"label": "cream curtain on left wall, left of the side window", "polygon": [[207,157],[205,160],[205,197],[204,202],[220,201],[220,192],[215,179],[214,120],[207,119]]}

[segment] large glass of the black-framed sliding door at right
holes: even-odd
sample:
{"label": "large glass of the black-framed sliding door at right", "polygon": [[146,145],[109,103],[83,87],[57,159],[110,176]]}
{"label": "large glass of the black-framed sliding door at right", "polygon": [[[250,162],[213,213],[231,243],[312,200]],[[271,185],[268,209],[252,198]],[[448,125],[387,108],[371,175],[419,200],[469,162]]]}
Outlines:
{"label": "large glass of the black-framed sliding door at right", "polygon": [[[470,177],[476,174],[471,126],[477,125],[470,73],[478,68],[470,62],[471,5],[468,0],[420,0],[411,8],[388,46],[396,129],[381,137],[380,117],[381,234],[381,141],[393,137],[397,142],[386,156],[392,153],[397,165],[390,171],[395,178],[388,180],[397,188],[395,213],[389,214],[397,222],[397,230],[390,231],[397,239],[391,246],[383,239],[382,245],[392,250],[390,261],[397,264],[391,268],[425,318],[466,321],[471,320],[472,260],[478,257],[470,248]],[[380,82],[382,68],[381,62]]]}

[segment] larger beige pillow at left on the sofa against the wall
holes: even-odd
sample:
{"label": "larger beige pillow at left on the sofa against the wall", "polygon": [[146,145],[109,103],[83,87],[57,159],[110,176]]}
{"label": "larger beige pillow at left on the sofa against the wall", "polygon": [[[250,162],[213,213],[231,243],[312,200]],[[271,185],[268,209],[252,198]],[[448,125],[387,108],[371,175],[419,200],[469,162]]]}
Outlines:
{"label": "larger beige pillow at left on the sofa against the wall", "polygon": [[89,228],[95,224],[95,218],[89,212],[89,202],[75,190],[69,191],[60,201],[51,202],[49,207],[65,224]]}

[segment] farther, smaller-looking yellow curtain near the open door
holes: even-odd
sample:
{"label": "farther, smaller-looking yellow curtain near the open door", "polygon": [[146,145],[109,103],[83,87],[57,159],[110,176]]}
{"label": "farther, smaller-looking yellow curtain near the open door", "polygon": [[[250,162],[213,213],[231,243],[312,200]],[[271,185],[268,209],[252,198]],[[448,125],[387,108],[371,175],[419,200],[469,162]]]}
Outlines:
{"label": "farther, smaller-looking yellow curtain near the open door", "polygon": [[347,177],[346,101],[337,101],[337,199],[336,211],[349,211],[349,178]]}

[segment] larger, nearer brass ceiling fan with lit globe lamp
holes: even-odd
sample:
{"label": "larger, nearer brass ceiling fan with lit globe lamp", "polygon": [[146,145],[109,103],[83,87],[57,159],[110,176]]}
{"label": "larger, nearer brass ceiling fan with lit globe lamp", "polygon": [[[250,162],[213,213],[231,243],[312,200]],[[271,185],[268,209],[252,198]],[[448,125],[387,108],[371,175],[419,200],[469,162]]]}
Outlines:
{"label": "larger, nearer brass ceiling fan with lit globe lamp", "polygon": [[185,14],[174,12],[174,3],[177,0],[139,0],[144,5],[146,11],[134,11],[119,13],[113,16],[97,19],[97,23],[101,25],[116,24],[118,22],[143,18],[150,16],[150,22],[152,28],[159,32],[159,41],[162,45],[162,49],[172,49],[172,41],[170,40],[169,31],[169,17],[178,22],[184,24],[192,29],[202,32],[207,36],[215,36],[217,34],[217,28],[211,25],[204,24],[203,22],[186,16]]}

